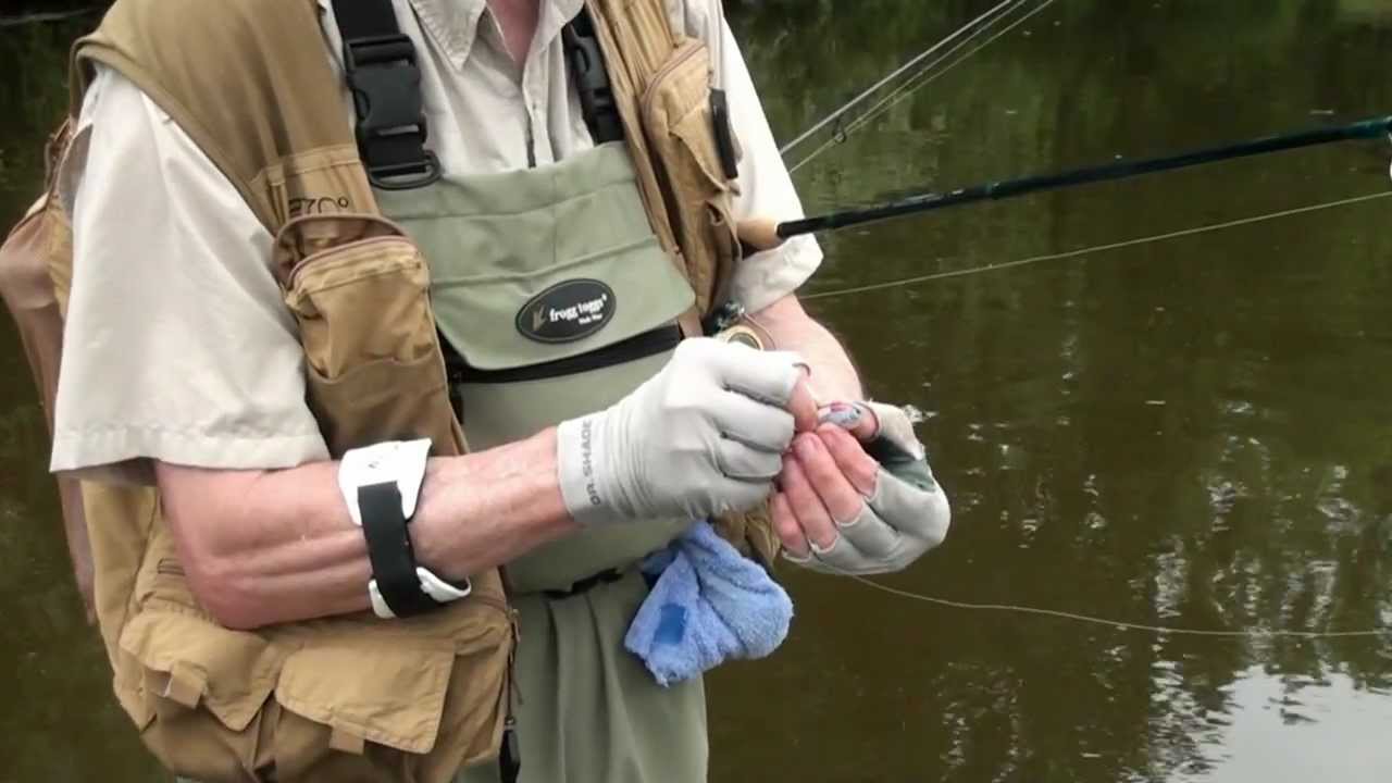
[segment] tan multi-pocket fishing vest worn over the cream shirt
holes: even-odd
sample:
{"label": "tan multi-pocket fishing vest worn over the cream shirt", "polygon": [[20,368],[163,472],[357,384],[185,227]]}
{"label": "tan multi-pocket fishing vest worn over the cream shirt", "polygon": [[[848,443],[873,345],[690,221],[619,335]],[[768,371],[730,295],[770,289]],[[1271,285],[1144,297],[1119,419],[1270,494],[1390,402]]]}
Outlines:
{"label": "tan multi-pocket fishing vest worn over the cream shirt", "polygon": [[[736,152],[721,131],[710,53],[674,32],[664,0],[587,0],[586,8],[608,65],[607,92],[589,100],[611,102],[617,113],[660,263],[672,263],[692,290],[681,329],[697,336],[741,256],[731,216]],[[299,325],[308,403],[333,457],[405,436],[429,437],[434,456],[461,454],[469,412],[461,415],[451,398],[457,385],[432,269],[420,247],[383,217],[383,191],[374,191],[432,176],[429,156],[418,157],[419,96],[345,106],[319,24],[313,0],[118,0],[74,47],[72,111],[93,63],[120,71],[276,237],[274,270]],[[372,98],[381,68],[413,67],[401,39],[356,49],[345,40],[354,91]],[[579,88],[585,100],[586,85]],[[351,114],[356,128],[345,121]],[[416,124],[416,138],[400,132]],[[53,163],[70,146],[71,125],[50,144]],[[0,293],[50,426],[72,272],[56,169],[0,248]],[[362,315],[380,312],[395,318]],[[749,327],[735,333],[767,337]],[[234,631],[189,591],[153,488],[60,485],[70,536],[82,538],[70,542],[79,573],[81,553],[90,550],[89,600],[116,695],[173,772],[203,783],[259,780],[269,769],[280,783],[445,782],[497,755],[516,644],[500,570],[475,574],[469,598],[425,616],[362,613]],[[773,561],[777,538],[766,510],[718,520],[717,529],[746,555]]]}

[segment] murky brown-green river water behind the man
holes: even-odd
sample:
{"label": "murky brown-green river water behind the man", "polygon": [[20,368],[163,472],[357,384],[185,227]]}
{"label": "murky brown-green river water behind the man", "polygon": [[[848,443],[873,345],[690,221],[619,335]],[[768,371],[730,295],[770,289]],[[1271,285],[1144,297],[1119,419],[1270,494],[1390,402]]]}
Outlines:
{"label": "murky brown-green river water behind the man", "polygon": [[[731,3],[781,138],[991,4]],[[60,100],[43,68],[72,28],[45,29],[0,32],[7,220]],[[1386,0],[1059,0],[798,181],[821,212],[1384,114],[1389,52]],[[1389,157],[1339,145],[852,230],[809,293],[1378,192]],[[877,397],[924,411],[955,500],[948,543],[881,581],[1201,630],[1392,626],[1389,209],[810,301]],[[156,779],[67,577],[3,323],[0,780]],[[713,780],[1392,779],[1392,634],[1141,633],[782,574],[789,642],[713,677]]]}

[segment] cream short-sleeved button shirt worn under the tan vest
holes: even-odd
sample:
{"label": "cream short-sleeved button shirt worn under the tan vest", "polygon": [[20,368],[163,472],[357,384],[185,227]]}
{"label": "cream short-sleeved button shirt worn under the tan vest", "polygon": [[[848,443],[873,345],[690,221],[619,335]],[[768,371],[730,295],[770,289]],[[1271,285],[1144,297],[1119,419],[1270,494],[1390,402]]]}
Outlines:
{"label": "cream short-sleeved button shirt worn under the tan vest", "polygon": [[[592,148],[565,74],[562,25],[582,0],[541,0],[525,67],[486,0],[394,0],[420,53],[430,146],[447,174],[515,170]],[[329,50],[341,45],[320,0]],[[677,29],[717,54],[743,149],[736,217],[802,216],[717,0],[668,0]],[[345,118],[345,121],[349,121]],[[148,96],[100,70],[63,173],[74,277],[52,470],[152,482],[152,460],[273,470],[327,458],[305,404],[294,319],[270,273],[271,237],[223,174]],[[757,311],[821,262],[810,238],[748,258],[734,295]]]}

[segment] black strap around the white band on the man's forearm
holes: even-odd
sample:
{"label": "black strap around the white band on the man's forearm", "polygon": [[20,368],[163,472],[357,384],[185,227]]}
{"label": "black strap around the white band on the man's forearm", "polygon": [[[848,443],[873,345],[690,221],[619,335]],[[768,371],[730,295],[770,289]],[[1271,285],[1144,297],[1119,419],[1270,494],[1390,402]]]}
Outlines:
{"label": "black strap around the white band on the man's forearm", "polygon": [[391,613],[412,617],[438,609],[440,603],[420,589],[416,555],[395,482],[359,486],[358,510],[362,513],[362,532],[367,536],[372,577]]}

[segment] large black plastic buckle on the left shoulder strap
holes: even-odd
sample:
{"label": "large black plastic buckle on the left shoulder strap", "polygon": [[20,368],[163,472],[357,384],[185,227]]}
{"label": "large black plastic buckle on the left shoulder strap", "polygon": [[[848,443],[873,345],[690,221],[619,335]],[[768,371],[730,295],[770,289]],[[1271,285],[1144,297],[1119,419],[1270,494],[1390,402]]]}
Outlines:
{"label": "large black plastic buckle on the left shoulder strap", "polygon": [[372,185],[401,191],[437,181],[440,160],[425,148],[429,131],[411,39],[397,33],[344,40],[344,70]]}

